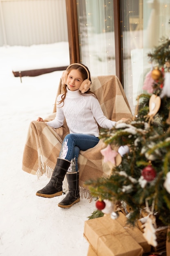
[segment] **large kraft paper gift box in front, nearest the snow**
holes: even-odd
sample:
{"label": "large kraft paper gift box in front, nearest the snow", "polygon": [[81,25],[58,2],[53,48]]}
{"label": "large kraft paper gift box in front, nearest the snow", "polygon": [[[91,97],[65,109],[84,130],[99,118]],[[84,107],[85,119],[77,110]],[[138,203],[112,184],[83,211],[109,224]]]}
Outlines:
{"label": "large kraft paper gift box in front, nearest the snow", "polygon": [[84,237],[97,256],[141,256],[143,248],[110,216],[86,220]]}

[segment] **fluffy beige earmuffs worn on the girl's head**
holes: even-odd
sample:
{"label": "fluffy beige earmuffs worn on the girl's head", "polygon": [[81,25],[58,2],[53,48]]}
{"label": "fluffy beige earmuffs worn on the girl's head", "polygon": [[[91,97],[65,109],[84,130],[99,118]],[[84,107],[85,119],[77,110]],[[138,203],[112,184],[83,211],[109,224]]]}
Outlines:
{"label": "fluffy beige earmuffs worn on the girl's head", "polygon": [[[72,65],[79,65],[79,66],[84,67],[84,65],[79,64],[79,63],[73,63],[73,64],[69,65],[69,66],[67,67],[67,69],[66,69],[65,71],[63,71],[63,73],[62,73],[62,77],[61,77],[61,79],[62,79],[62,85],[67,84],[66,82],[67,82],[67,77],[68,77],[68,69],[69,69],[69,67],[71,67]],[[80,90],[82,93],[87,92],[88,89],[89,89],[90,86],[91,86],[91,81],[89,80],[89,72],[88,72],[88,70],[86,69],[86,67],[84,67],[84,69],[85,69],[86,72],[87,72],[87,79],[85,79],[85,80],[82,82],[82,84],[80,85],[79,90]]]}

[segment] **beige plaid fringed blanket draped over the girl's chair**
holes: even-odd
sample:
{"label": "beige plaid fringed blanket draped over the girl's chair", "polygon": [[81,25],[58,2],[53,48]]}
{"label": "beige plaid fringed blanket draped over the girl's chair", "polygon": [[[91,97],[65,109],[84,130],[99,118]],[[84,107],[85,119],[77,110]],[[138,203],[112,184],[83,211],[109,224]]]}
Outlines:
{"label": "beige plaid fringed blanket draped over the girl's chair", "polygon": [[[60,80],[57,95],[62,92],[61,90]],[[119,121],[121,118],[132,117],[126,95],[117,76],[92,77],[91,91],[97,95],[104,115],[108,119]],[[54,119],[55,112],[56,99],[53,114],[45,121]],[[51,177],[66,134],[68,134],[66,123],[54,129],[43,122],[32,121],[24,147],[22,169],[28,173],[37,174],[38,177],[43,174]],[[109,167],[104,163],[100,152],[105,147],[106,144],[101,139],[94,148],[80,150],[78,157],[80,186],[83,187],[86,180],[95,180],[97,177],[108,175]]]}

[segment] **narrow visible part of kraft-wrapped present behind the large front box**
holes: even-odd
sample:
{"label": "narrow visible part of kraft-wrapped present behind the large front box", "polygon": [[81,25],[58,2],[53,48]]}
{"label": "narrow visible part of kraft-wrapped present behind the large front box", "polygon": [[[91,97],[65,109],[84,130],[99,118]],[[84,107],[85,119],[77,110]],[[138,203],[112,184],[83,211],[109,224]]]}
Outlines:
{"label": "narrow visible part of kraft-wrapped present behind the large front box", "polygon": [[132,238],[134,238],[137,241],[137,243],[141,245],[141,247],[144,249],[144,253],[150,252],[151,245],[148,245],[146,239],[143,236],[142,231],[135,226],[127,224],[127,217],[123,213],[119,212],[119,217],[116,220],[117,222],[120,223],[122,227],[126,229],[126,231],[128,231]]}

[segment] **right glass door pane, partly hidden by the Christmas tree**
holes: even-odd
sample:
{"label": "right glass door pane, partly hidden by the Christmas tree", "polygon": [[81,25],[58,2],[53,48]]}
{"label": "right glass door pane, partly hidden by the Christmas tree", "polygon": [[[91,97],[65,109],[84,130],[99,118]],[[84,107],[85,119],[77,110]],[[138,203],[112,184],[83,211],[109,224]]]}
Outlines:
{"label": "right glass door pane, partly hidden by the Christmas tree", "polygon": [[170,1],[121,0],[124,90],[133,113],[154,63],[148,53],[170,37]]}

